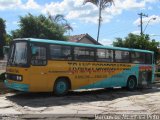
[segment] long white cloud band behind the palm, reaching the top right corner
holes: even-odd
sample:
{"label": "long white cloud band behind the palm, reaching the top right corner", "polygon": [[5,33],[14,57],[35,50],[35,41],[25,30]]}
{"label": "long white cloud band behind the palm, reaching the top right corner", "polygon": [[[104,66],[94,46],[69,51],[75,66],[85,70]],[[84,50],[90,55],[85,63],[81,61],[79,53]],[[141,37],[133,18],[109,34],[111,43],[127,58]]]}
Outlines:
{"label": "long white cloud band behind the palm, reaching the top right corner", "polygon": [[[83,5],[84,0],[63,0],[61,2],[51,2],[44,6],[42,13],[50,12],[52,15],[64,14],[69,20],[80,20],[87,23],[98,23],[98,7],[92,3]],[[146,3],[157,0],[114,0],[115,5],[103,10],[103,23],[110,22],[112,18],[119,15],[123,10],[143,9]]]}

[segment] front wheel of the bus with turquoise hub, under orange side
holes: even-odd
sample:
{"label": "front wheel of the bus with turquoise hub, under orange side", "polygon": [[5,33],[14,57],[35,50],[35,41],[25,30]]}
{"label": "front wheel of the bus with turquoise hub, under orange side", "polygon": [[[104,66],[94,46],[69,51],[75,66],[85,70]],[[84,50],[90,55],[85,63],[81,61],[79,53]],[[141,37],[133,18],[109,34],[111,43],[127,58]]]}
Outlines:
{"label": "front wheel of the bus with turquoise hub, under orange side", "polygon": [[58,78],[54,84],[53,93],[56,96],[66,95],[69,90],[69,82],[66,78]]}

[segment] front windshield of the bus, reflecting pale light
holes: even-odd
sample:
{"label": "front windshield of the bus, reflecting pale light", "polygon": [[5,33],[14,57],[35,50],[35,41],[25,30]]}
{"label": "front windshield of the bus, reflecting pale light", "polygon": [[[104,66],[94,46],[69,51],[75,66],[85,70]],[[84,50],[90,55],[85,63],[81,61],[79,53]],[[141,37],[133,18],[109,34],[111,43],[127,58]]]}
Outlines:
{"label": "front windshield of the bus, reflecting pale light", "polygon": [[16,42],[11,45],[8,65],[9,66],[27,65],[27,42]]}

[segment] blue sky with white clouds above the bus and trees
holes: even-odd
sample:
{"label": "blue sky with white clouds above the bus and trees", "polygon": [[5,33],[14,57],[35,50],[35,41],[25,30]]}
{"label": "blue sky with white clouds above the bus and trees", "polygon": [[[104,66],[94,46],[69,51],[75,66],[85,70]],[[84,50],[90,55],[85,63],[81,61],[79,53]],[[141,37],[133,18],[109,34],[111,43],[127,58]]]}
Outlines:
{"label": "blue sky with white clouds above the bus and trees", "polygon": [[[19,28],[19,17],[49,12],[63,14],[71,24],[70,35],[88,33],[97,37],[98,7],[84,0],[0,0],[0,17],[6,21],[6,30]],[[114,0],[114,5],[102,11],[99,42],[112,45],[117,37],[125,38],[129,33],[140,34],[140,16],[143,17],[143,32],[160,42],[160,0]],[[66,33],[69,34],[69,33]]]}

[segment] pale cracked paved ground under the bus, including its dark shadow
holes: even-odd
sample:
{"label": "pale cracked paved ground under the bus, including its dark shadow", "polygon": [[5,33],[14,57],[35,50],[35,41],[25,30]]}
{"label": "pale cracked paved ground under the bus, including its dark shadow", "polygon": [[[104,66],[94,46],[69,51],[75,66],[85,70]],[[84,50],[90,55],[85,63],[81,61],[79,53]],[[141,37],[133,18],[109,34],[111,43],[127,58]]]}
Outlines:
{"label": "pale cracked paved ground under the bus, including its dark shadow", "polygon": [[10,119],[56,117],[70,120],[75,116],[77,119],[94,119],[95,114],[158,113],[159,86],[134,92],[125,89],[70,92],[64,97],[55,97],[51,93],[8,93],[0,96],[0,114],[5,114],[2,118],[9,116]]}

